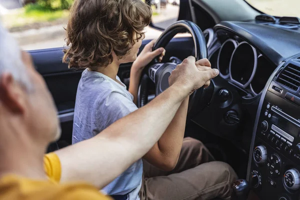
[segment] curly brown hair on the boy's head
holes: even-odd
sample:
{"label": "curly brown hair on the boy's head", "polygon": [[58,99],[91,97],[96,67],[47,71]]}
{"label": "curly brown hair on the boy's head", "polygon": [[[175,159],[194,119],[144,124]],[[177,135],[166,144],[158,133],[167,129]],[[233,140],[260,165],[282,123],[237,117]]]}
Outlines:
{"label": "curly brown hair on the boy's head", "polygon": [[97,70],[125,56],[151,19],[141,0],[75,0],[66,27],[63,62],[69,68]]}

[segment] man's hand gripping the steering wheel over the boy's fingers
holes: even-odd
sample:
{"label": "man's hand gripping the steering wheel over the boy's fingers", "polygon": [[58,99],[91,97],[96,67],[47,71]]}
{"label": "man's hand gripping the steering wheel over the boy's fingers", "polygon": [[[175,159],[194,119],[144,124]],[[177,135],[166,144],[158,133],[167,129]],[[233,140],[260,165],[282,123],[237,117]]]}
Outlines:
{"label": "man's hand gripping the steering wheel over the boy's fingers", "polygon": [[207,87],[210,79],[218,73],[217,69],[210,67],[210,62],[206,58],[195,61],[193,56],[189,56],[172,71],[169,76],[169,85],[176,84],[187,89],[188,93],[192,93],[203,85]]}

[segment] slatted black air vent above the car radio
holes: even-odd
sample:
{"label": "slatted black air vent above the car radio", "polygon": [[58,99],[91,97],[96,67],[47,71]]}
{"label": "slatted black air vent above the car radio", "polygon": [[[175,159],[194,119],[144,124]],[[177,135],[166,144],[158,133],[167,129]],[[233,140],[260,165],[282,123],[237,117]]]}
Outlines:
{"label": "slatted black air vent above the car radio", "polygon": [[300,86],[300,67],[288,64],[279,74],[276,82],[296,91]]}

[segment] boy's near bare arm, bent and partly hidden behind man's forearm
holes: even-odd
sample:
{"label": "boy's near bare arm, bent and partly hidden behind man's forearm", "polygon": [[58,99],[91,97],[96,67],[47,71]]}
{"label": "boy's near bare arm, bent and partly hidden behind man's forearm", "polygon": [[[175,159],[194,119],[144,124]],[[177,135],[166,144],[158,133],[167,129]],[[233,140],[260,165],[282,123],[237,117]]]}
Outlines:
{"label": "boy's near bare arm, bent and partly hidden behind man's forearm", "polygon": [[[206,67],[211,67],[208,59],[200,59],[196,62],[196,65],[199,67],[198,69],[208,69]],[[204,87],[208,85],[209,82],[205,82]],[[183,100],[174,118],[158,142],[143,157],[149,163],[162,170],[172,170],[178,161],[185,130],[188,99],[189,97],[186,97]]]}

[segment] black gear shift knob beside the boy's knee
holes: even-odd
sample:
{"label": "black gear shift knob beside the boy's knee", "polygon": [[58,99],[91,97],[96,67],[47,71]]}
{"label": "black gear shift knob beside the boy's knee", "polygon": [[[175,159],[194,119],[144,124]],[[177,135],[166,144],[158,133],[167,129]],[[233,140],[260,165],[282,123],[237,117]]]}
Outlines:
{"label": "black gear shift knob beside the boy's knee", "polygon": [[250,191],[250,186],[247,180],[238,179],[231,184],[230,200],[246,200]]}

